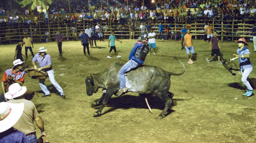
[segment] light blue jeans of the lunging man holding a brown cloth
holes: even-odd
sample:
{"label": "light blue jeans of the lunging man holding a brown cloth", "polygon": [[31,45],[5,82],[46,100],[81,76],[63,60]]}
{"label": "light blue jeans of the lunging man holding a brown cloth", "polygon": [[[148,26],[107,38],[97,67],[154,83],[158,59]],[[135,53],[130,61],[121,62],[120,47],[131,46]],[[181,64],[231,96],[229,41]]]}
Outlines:
{"label": "light blue jeans of the lunging man holding a brown cloth", "polygon": [[[52,83],[52,85],[58,90],[58,92],[60,93],[60,95],[63,94],[63,90],[60,87],[60,85],[56,82],[56,80],[54,79],[54,71],[53,69],[46,71],[48,74],[48,77],[50,79],[50,82]],[[39,79],[39,85],[41,87],[41,89],[43,90],[45,95],[49,95],[50,91],[47,89],[47,87],[44,84],[45,79]]]}

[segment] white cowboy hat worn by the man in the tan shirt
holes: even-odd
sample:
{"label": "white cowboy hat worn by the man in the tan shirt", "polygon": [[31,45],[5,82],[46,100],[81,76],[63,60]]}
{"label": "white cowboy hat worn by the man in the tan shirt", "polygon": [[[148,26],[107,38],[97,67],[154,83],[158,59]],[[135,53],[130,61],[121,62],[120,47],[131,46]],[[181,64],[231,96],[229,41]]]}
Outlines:
{"label": "white cowboy hat worn by the man in the tan shirt", "polygon": [[8,92],[5,94],[5,98],[7,99],[13,99],[19,96],[22,96],[26,91],[26,86],[20,86],[18,83],[14,83],[9,86]]}

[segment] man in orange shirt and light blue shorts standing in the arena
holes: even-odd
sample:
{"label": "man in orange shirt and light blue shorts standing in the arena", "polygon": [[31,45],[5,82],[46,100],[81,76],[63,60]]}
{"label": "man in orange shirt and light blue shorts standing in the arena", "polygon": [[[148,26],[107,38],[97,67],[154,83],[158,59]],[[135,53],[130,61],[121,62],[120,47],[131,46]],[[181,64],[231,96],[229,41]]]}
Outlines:
{"label": "man in orange shirt and light blue shorts standing in the arena", "polygon": [[[190,29],[188,29],[187,32],[188,33],[184,36],[184,44],[185,44],[188,64],[193,64],[194,62],[191,60],[191,58],[194,55],[194,47],[193,47],[193,42],[192,42],[192,35],[190,33]],[[191,54],[189,54],[189,51],[191,52]]]}

